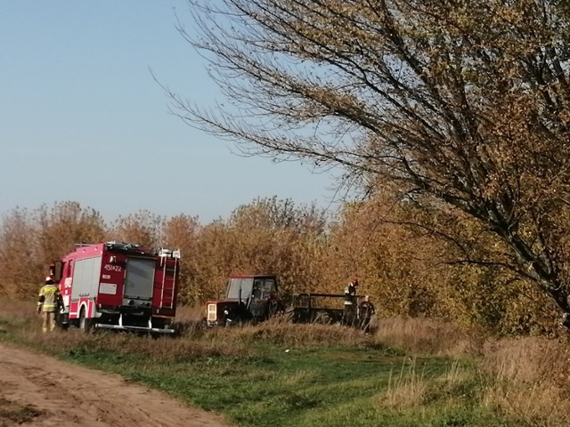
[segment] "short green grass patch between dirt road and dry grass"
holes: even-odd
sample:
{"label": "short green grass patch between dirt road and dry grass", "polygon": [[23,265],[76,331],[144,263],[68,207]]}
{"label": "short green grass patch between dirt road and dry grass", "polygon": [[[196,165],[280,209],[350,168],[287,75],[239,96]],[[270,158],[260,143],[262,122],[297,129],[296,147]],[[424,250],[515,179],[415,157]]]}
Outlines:
{"label": "short green grass patch between dirt road and dry grass", "polygon": [[[446,375],[457,362],[412,359],[390,348],[285,352],[280,346],[259,345],[255,350],[245,358],[174,358],[167,363],[102,350],[60,356],[167,391],[243,426],[508,425],[479,405],[476,373],[468,362],[460,366],[464,377],[449,383]],[[416,402],[389,403],[390,393],[405,387],[406,375],[426,383],[427,390]]]}

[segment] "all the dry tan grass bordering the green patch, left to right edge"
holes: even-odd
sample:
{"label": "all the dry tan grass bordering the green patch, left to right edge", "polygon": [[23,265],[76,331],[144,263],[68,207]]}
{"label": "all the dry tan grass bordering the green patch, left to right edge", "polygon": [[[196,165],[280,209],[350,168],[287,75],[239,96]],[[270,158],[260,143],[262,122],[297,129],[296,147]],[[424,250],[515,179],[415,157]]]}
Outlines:
{"label": "all the dry tan grass bordering the green patch, left to right edge", "polygon": [[[195,359],[201,357],[256,357],[252,342],[271,342],[284,348],[307,346],[392,346],[413,354],[453,359],[466,355],[480,367],[476,396],[483,405],[497,408],[523,425],[558,427],[570,414],[570,345],[539,337],[485,340],[481,334],[466,333],[442,320],[390,318],[379,321],[376,334],[362,334],[345,326],[293,325],[273,319],[258,326],[235,326],[206,330],[199,327],[199,309],[179,311],[179,322],[187,326],[179,338],[150,339],[133,334],[81,334],[77,330],[42,334],[35,302],[3,302],[0,332],[17,329],[18,340],[53,347],[62,353],[103,350],[137,353],[150,359]],[[392,375],[387,391],[379,398],[383,407],[415,407],[426,399],[455,399],[454,387],[466,382],[466,370],[453,363],[443,375],[427,378],[415,359],[406,359]],[[299,372],[291,381],[304,381],[310,373]],[[471,381],[471,380],[468,380]],[[450,392],[446,392],[450,391]],[[457,393],[455,393],[457,394]],[[446,400],[447,401],[447,400]],[[452,401],[448,402],[453,404]]]}

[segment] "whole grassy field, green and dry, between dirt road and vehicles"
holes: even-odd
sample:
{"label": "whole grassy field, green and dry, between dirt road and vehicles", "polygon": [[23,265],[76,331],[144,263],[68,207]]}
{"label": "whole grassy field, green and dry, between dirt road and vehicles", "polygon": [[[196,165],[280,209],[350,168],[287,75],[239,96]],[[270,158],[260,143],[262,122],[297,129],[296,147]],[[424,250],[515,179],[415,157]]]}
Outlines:
{"label": "whole grassy field, green and dry, between dirt road and vehicles", "polygon": [[[421,322],[428,327],[421,329]],[[45,337],[37,326],[24,305],[0,312],[0,340],[124,375],[243,426],[566,423],[564,383],[558,389],[556,382],[541,385],[536,376],[541,374],[529,361],[528,374],[514,369],[523,358],[532,359],[529,354],[519,349],[501,356],[509,346],[495,342],[485,356],[483,345],[465,343],[465,335],[450,332],[450,326],[444,334],[443,324],[427,319],[387,322],[374,335],[279,322],[212,331],[190,328],[181,337],[159,339],[70,330],[54,333],[56,344],[53,335]],[[399,344],[398,330],[405,338]],[[430,341],[426,331],[436,336]],[[501,365],[509,360],[508,366]],[[514,369],[510,374],[508,367]],[[533,402],[525,403],[529,396]]]}

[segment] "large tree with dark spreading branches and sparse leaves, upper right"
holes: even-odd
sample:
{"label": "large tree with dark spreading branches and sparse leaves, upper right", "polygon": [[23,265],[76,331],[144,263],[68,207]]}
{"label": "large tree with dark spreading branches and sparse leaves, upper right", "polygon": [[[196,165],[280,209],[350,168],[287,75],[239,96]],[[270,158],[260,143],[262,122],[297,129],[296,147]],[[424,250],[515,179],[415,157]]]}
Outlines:
{"label": "large tree with dark spreading branches and sparse leaves, upper right", "polygon": [[[569,311],[570,6],[563,0],[189,0],[224,103],[168,91],[256,155],[452,205]],[[198,33],[196,28],[199,29]],[[467,259],[468,257],[466,257]]]}

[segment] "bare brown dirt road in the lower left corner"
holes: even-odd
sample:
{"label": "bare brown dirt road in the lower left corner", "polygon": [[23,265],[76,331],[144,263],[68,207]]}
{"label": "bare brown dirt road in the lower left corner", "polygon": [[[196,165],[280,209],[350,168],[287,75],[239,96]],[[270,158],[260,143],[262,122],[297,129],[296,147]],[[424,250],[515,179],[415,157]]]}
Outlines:
{"label": "bare brown dirt road in the lower left corner", "polygon": [[227,427],[115,375],[0,343],[0,427]]}

